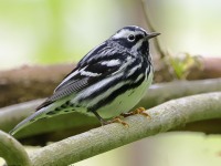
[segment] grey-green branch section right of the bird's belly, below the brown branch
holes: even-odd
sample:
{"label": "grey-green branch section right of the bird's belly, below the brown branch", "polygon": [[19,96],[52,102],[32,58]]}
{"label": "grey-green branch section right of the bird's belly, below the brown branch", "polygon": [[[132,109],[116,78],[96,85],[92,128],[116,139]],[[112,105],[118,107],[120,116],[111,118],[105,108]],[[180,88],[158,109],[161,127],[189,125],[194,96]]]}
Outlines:
{"label": "grey-green branch section right of the bird's belly, below the brown branch", "polygon": [[217,91],[221,91],[221,79],[158,83],[149,87],[137,106],[152,107],[172,98]]}

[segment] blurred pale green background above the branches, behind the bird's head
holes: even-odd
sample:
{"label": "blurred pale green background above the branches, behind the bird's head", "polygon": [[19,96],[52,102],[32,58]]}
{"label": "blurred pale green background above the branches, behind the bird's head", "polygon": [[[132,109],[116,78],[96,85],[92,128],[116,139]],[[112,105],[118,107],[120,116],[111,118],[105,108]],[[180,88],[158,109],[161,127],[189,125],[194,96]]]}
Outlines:
{"label": "blurred pale green background above the branches, behind the bird's head", "polygon": [[[221,1],[147,0],[160,43],[220,55]],[[0,69],[76,62],[124,25],[146,28],[139,0],[0,0]]]}

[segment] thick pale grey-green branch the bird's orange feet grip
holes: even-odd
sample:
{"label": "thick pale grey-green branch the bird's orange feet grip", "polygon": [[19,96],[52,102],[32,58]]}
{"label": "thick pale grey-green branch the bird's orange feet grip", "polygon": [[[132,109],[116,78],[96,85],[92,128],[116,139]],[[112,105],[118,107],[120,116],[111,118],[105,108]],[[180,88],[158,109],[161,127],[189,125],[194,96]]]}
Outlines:
{"label": "thick pale grey-green branch the bird's orange feet grip", "polygon": [[[134,115],[122,124],[102,126],[35,151],[33,165],[67,165],[162,133],[190,122],[221,117],[221,92],[173,100],[147,111],[151,118]],[[56,152],[56,153],[54,153]]]}

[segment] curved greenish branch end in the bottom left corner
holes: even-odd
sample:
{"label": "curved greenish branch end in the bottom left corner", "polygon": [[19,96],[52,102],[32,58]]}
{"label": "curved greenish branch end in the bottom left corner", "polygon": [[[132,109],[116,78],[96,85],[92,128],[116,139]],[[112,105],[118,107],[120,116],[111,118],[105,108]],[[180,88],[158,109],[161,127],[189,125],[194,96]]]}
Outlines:
{"label": "curved greenish branch end in the bottom left corner", "polygon": [[8,165],[31,166],[24,147],[13,137],[0,131],[0,157],[4,158]]}

